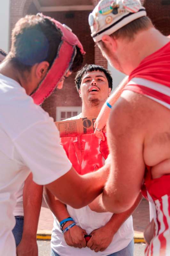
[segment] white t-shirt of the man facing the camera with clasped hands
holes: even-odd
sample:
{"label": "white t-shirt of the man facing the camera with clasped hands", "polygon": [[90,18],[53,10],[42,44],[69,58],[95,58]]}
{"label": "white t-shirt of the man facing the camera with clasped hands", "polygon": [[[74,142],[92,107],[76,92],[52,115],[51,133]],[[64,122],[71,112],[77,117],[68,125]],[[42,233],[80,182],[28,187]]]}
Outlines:
{"label": "white t-shirt of the man facing the camera with clasped hands", "polygon": [[[78,119],[78,118],[81,118],[81,114],[66,120]],[[85,229],[88,235],[93,230],[103,227],[111,219],[113,215],[113,213],[111,212],[98,213],[98,212],[91,211],[89,206],[82,207],[81,209],[74,209],[73,207],[67,205],[67,211],[75,221],[76,225]],[[134,236],[133,220],[132,220],[132,216],[130,216],[119,228],[119,230],[113,237],[112,243],[107,247],[107,249],[104,252],[95,252],[90,250],[88,247],[81,248],[81,249],[74,248],[66,244],[64,235],[60,230],[60,224],[54,215],[53,217],[54,217],[54,226],[52,229],[52,236],[51,236],[51,248],[53,249],[53,251],[57,252],[60,256],[110,255],[128,246],[128,244],[131,242]]]}

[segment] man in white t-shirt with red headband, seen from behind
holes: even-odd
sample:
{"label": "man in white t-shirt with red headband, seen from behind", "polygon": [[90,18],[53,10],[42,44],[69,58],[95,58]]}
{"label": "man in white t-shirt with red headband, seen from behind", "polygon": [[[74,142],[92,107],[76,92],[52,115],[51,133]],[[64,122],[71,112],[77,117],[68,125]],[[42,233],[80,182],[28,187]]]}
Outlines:
{"label": "man in white t-shirt with red headband, seen from behind", "polygon": [[[46,184],[59,200],[75,208],[89,204],[102,192],[108,166],[95,174],[78,175],[59,145],[59,132],[53,119],[38,106],[58,83],[62,87],[63,77],[82,63],[83,54],[81,43],[70,29],[50,17],[27,15],[12,31],[11,50],[0,64],[0,252],[3,256],[16,255],[12,235],[16,192],[30,172],[35,183]],[[36,192],[32,197],[37,197]],[[30,229],[36,222],[37,212],[32,217]],[[24,255],[37,253],[33,249],[28,251]]]}

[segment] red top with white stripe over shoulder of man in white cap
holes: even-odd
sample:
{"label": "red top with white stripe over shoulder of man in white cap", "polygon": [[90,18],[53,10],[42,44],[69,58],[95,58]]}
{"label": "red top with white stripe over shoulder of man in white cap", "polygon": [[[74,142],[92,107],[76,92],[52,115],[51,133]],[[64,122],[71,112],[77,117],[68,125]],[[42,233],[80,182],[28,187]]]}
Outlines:
{"label": "red top with white stripe over shoulder of man in white cap", "polygon": [[170,109],[170,42],[132,71],[124,90],[143,94]]}

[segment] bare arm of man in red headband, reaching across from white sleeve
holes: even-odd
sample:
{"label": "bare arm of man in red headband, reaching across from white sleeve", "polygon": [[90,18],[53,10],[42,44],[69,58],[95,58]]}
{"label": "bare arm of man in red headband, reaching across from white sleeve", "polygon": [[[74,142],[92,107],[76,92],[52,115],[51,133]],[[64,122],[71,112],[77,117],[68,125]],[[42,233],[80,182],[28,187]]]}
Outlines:
{"label": "bare arm of man in red headband, reaching across from white sleeve", "polygon": [[46,188],[61,202],[73,208],[81,208],[103,191],[109,171],[110,168],[106,164],[97,172],[81,176],[72,167],[65,175],[47,184]]}

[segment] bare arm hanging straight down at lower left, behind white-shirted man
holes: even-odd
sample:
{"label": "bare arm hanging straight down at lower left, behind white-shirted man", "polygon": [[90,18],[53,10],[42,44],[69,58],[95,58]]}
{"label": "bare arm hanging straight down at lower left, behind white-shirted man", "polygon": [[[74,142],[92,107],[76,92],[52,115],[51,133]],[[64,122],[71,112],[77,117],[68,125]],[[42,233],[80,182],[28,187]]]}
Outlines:
{"label": "bare arm hanging straight down at lower left, behind white-shirted man", "polygon": [[[23,189],[24,228],[17,255],[38,256],[36,233],[41,210],[43,186],[37,185],[32,179],[32,173],[25,180]],[[31,254],[32,253],[32,254]]]}

